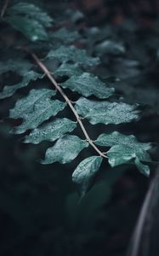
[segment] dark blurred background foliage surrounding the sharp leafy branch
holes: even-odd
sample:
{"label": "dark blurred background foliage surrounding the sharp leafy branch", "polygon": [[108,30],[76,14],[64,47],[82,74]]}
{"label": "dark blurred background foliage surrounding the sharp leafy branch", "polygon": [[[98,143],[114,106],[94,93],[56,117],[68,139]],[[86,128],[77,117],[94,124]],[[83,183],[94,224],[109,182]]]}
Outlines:
{"label": "dark blurred background foliage surrounding the sharp leafy branch", "polygon": [[[50,29],[53,38],[50,48],[65,38],[66,45],[75,42],[91,54],[99,55],[102,64],[94,73],[116,87],[116,97],[141,105],[143,113],[139,122],[117,125],[117,128],[133,133],[143,142],[155,142],[152,153],[154,160],[157,159],[159,3],[79,0],[42,1],[42,5],[59,20],[61,27],[67,26],[72,31],[68,36],[63,31],[54,38],[54,30]],[[1,26],[1,31],[1,60],[6,55],[19,55],[12,52],[11,45],[16,40],[23,44],[20,33],[10,32],[6,25]],[[44,54],[48,51],[45,42],[31,45],[37,54],[42,46]],[[50,68],[54,70],[54,67],[56,63],[50,63]],[[4,81],[13,84],[19,79],[5,73],[0,78],[1,87]],[[41,84],[38,81],[31,86]],[[104,164],[93,189],[79,203],[71,183],[71,170],[79,158],[90,153],[88,149],[69,165],[42,166],[37,159],[43,157],[46,143],[39,147],[22,144],[22,137],[9,135],[14,125],[6,119],[9,108],[26,91],[18,91],[9,101],[2,101],[0,108],[1,119],[5,119],[0,128],[0,255],[126,255],[156,165],[151,165],[150,178],[146,178],[133,166],[111,169]],[[113,125],[107,125],[106,131],[110,128]],[[104,126],[96,125],[90,131],[91,137],[103,129]],[[155,253],[150,256],[158,255]]]}

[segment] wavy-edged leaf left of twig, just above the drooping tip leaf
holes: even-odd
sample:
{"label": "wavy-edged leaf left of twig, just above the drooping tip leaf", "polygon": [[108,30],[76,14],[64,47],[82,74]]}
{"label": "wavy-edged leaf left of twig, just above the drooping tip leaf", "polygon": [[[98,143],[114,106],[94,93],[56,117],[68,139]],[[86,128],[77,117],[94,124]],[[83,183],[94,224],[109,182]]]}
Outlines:
{"label": "wavy-edged leaf left of twig, just above the drooping tip leaf", "polygon": [[70,163],[74,160],[83,148],[87,148],[88,143],[77,136],[65,135],[61,137],[53,147],[48,148],[43,164],[52,164],[56,161],[61,164]]}

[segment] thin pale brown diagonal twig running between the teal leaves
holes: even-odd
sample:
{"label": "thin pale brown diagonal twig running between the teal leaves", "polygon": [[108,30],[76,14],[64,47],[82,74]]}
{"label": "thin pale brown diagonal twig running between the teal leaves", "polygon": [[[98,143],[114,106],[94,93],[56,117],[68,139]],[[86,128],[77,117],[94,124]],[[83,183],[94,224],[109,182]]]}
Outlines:
{"label": "thin pale brown diagonal twig running between the teal leaves", "polygon": [[74,115],[77,118],[77,123],[81,126],[82,132],[84,134],[84,136],[86,137],[87,142],[95,149],[96,152],[98,152],[98,154],[104,158],[108,158],[104,153],[102,153],[99,148],[97,148],[93,142],[93,140],[91,140],[91,138],[88,136],[88,132],[86,131],[84,125],[82,124],[82,119],[81,117],[78,115],[76,109],[73,107],[71,100],[68,98],[68,96],[65,95],[64,90],[61,89],[60,84],[58,84],[53,75],[48,71],[48,68],[45,67],[45,65],[43,64],[42,61],[39,60],[39,58],[37,57],[37,55],[31,53],[31,56],[33,57],[33,59],[37,62],[37,65],[39,67],[41,67],[41,69],[43,70],[43,72],[46,74],[46,76],[48,77],[48,79],[52,82],[52,84],[54,84],[54,87],[60,92],[60,95],[63,96],[63,98],[65,99],[65,102],[67,102],[67,104],[69,105],[69,107],[71,108],[71,111],[74,113]]}

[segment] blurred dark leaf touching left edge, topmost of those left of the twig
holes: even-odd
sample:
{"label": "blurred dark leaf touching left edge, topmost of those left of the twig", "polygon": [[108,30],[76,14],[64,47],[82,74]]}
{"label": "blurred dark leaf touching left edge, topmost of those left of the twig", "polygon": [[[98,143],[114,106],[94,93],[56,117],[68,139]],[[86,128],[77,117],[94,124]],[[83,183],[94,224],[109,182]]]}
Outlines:
{"label": "blurred dark leaf touching left edge, topmost of those left of the twig", "polygon": [[0,74],[13,71],[20,75],[24,75],[31,70],[31,67],[32,64],[24,59],[0,61]]}

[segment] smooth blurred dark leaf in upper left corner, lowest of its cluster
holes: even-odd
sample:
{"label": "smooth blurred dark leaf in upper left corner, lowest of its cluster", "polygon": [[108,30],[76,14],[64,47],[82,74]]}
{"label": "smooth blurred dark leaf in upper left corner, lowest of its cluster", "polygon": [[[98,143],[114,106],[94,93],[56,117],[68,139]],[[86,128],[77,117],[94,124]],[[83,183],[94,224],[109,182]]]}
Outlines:
{"label": "smooth blurred dark leaf in upper left corner, lowest of its cluster", "polygon": [[45,31],[45,28],[37,20],[20,16],[9,16],[5,20],[31,41],[48,40],[48,34]]}

